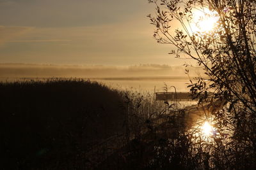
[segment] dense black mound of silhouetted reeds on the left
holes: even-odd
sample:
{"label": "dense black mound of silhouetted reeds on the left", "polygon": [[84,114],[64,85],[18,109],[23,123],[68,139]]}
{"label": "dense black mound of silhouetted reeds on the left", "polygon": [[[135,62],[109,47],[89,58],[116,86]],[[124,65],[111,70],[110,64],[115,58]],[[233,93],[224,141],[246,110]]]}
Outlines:
{"label": "dense black mound of silhouetted reeds on the left", "polygon": [[83,169],[84,152],[124,131],[120,104],[82,79],[0,83],[1,169]]}

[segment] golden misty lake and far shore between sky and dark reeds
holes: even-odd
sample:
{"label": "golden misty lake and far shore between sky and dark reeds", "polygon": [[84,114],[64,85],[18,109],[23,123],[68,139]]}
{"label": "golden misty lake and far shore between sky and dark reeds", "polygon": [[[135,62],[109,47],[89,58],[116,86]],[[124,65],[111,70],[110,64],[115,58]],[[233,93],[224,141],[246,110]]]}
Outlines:
{"label": "golden misty lake and far shore between sky and dark reeds", "polygon": [[[191,71],[195,77],[198,71]],[[143,64],[139,66],[58,66],[40,64],[0,64],[0,81],[44,80],[47,78],[84,78],[114,89],[161,92],[164,83],[186,92],[188,75],[182,66]],[[155,89],[156,87],[156,89]],[[170,89],[173,90],[173,89]]]}

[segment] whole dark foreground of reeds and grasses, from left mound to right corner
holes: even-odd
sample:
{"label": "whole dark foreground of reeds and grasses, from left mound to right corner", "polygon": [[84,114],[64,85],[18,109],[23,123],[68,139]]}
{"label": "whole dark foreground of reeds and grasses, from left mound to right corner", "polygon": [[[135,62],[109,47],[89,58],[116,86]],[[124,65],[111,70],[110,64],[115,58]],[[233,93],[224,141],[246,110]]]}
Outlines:
{"label": "whole dark foreground of reeds and grasses, from left mound to right corner", "polygon": [[205,137],[205,117],[193,122],[193,111],[91,81],[0,83],[0,95],[1,169],[256,167],[254,145],[230,128],[226,106],[198,106],[216,129]]}

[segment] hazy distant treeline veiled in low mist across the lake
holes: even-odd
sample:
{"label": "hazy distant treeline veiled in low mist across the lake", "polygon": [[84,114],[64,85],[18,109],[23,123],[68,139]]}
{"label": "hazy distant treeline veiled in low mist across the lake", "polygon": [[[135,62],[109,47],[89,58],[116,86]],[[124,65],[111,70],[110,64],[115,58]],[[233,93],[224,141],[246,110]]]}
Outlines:
{"label": "hazy distant treeline veiled in low mist across the lake", "polygon": [[[191,76],[193,74],[191,68]],[[86,77],[118,78],[143,76],[186,76],[184,67],[160,64],[140,66],[63,66],[40,64],[1,64],[0,77]]]}

